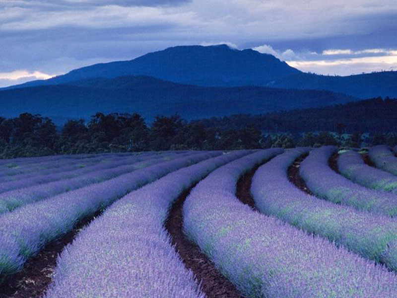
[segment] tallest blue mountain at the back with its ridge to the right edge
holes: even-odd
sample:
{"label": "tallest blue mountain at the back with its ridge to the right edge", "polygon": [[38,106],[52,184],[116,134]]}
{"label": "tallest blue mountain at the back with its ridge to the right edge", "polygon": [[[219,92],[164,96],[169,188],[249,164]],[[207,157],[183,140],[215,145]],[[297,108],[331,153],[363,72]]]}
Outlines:
{"label": "tallest blue mountain at the back with its ridge to the right edge", "polygon": [[269,54],[227,45],[177,46],[130,61],[95,64],[47,80],[6,89],[56,85],[86,78],[147,75],[199,86],[266,86],[345,93],[356,98],[397,97],[397,72],[327,76],[303,73]]}

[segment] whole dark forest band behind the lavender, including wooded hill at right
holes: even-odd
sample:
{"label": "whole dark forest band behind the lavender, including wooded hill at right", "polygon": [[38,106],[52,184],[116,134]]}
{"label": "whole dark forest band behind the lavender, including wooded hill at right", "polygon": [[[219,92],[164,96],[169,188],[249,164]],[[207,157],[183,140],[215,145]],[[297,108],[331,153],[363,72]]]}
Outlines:
{"label": "whole dark forest band behind the lavender, including wooded hill at right", "polygon": [[327,108],[186,121],[96,113],[56,127],[48,117],[0,117],[0,158],[146,150],[397,145],[397,100],[374,98]]}

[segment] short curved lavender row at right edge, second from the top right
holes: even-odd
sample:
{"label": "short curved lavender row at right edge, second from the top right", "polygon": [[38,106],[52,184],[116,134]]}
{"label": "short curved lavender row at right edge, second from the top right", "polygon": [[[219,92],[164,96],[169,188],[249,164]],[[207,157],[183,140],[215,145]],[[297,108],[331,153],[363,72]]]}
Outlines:
{"label": "short curved lavender row at right edge, second from the top right", "polygon": [[397,194],[397,177],[365,164],[358,152],[347,151],[339,155],[339,172],[363,186]]}

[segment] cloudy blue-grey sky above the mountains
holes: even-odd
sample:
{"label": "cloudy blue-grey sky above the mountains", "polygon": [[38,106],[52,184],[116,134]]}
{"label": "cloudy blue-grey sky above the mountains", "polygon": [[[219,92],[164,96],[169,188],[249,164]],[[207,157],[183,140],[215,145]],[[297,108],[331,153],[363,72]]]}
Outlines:
{"label": "cloudy blue-grey sky above the mountains", "polygon": [[390,71],[396,37],[396,0],[0,0],[0,87],[221,43],[317,74]]}

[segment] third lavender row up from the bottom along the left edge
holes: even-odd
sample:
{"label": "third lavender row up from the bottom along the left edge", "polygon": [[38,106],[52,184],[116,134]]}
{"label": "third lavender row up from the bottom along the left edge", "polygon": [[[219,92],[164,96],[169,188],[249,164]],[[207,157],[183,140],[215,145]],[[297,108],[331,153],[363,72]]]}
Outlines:
{"label": "third lavender row up from the bottom along the left edge", "polygon": [[43,174],[42,172],[36,173],[36,175],[32,176],[31,173],[17,175],[19,177],[16,181],[8,181],[0,183],[0,193],[21,189],[25,187],[35,186],[39,184],[49,183],[53,181],[70,179],[70,178],[78,178],[83,174],[93,173],[99,170],[108,170],[111,168],[115,168],[118,166],[132,164],[138,161],[144,161],[151,158],[171,158],[172,156],[180,156],[175,153],[164,153],[164,154],[149,154],[149,155],[131,155],[128,157],[115,157],[115,158],[107,158],[97,160],[93,164],[87,164],[86,166],[75,167],[75,165],[69,166],[68,170],[62,169],[59,171],[59,168],[49,169],[52,173],[48,173],[47,171]]}

